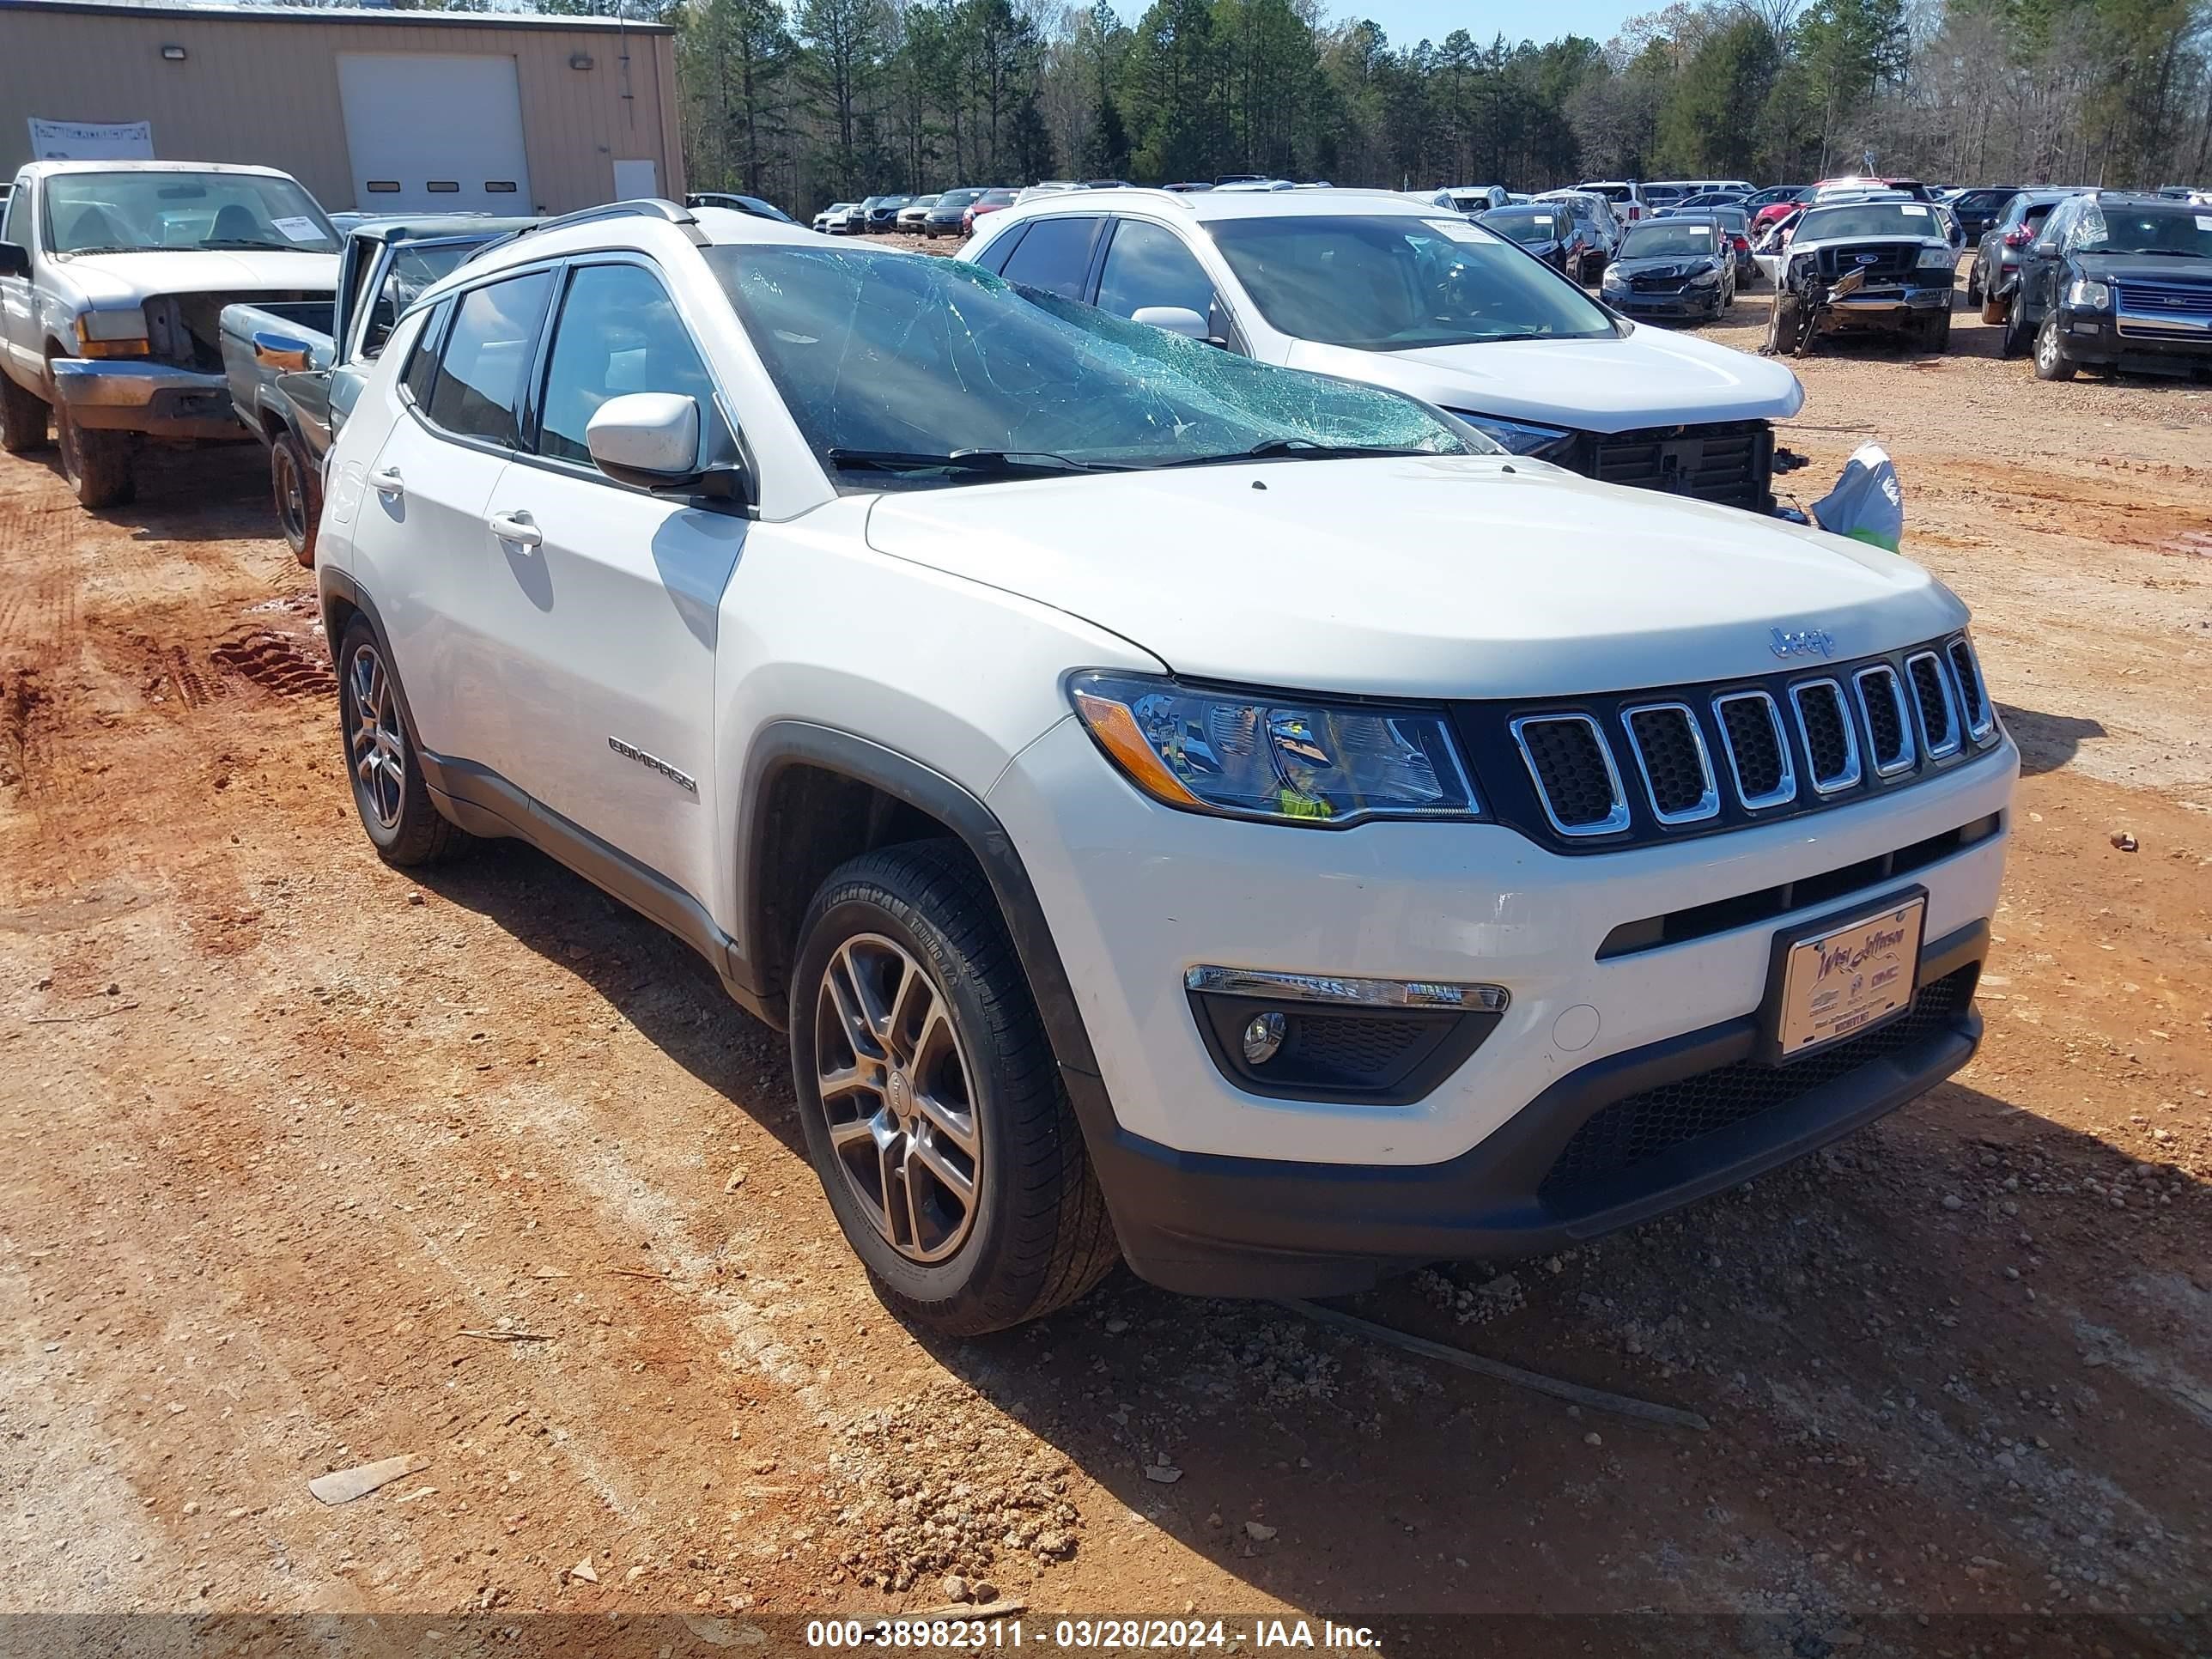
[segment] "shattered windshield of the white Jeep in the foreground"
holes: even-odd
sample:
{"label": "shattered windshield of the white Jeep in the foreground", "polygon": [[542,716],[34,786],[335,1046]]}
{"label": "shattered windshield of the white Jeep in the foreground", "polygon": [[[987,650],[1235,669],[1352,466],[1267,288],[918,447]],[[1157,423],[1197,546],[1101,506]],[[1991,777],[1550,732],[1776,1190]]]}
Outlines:
{"label": "shattered windshield of the white Jeep in the foreground", "polygon": [[1484,449],[1396,392],[1254,363],[978,265],[858,248],[703,252],[841,489]]}

